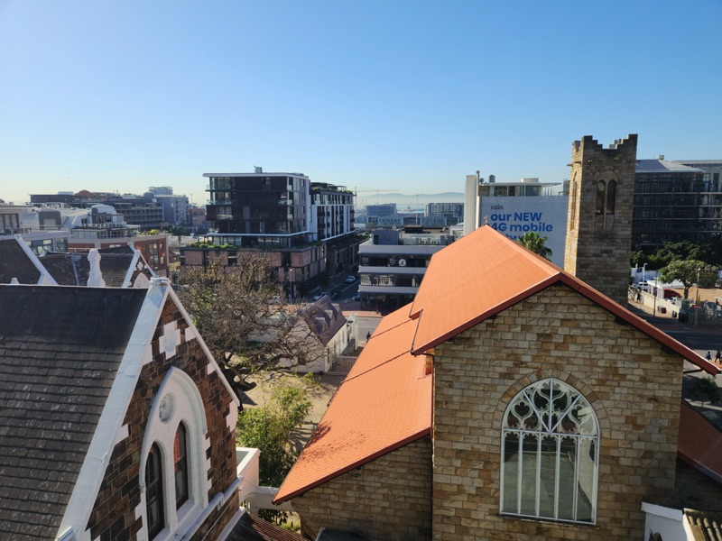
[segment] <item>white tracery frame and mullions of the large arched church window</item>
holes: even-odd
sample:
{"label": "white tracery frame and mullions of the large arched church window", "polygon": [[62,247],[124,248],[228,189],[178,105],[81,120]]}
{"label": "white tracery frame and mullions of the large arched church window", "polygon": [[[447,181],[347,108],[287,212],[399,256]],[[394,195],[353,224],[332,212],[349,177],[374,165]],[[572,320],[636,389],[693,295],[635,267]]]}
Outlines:
{"label": "white tracery frame and mullions of the large arched church window", "polygon": [[[564,395],[565,400],[563,402],[563,408],[554,409],[554,400],[549,400],[546,407],[540,408],[540,403],[543,405],[544,395],[549,395],[554,392],[559,392]],[[534,399],[537,399],[535,402]],[[514,408],[519,409],[514,409]],[[519,411],[527,411],[526,416],[520,415]],[[571,411],[576,413],[582,413],[584,418],[580,421],[579,418],[570,417]],[[524,426],[524,423],[532,424],[536,422],[535,427]],[[507,435],[518,436],[518,450],[517,450],[517,469],[514,473],[516,488],[514,490],[516,494],[515,502],[504,503],[504,456],[505,456],[505,445]],[[527,473],[526,478],[523,473],[523,437],[524,436],[537,436],[537,451],[534,457],[534,463],[536,465],[536,479],[533,482],[535,487],[534,493],[534,511],[523,510],[523,485],[526,482],[526,487],[529,486],[529,474]],[[552,438],[556,440],[556,459],[554,465],[554,503],[553,513],[546,515],[542,512],[541,503],[541,486],[542,486],[542,440],[544,438]],[[561,442],[568,440],[574,442],[576,448],[575,464],[573,469],[574,479],[571,481],[574,487],[572,495],[572,518],[560,517],[560,456],[562,455]],[[499,495],[499,509],[503,515],[515,516],[520,518],[535,518],[541,520],[553,520],[560,522],[572,522],[576,524],[595,524],[597,521],[597,488],[598,488],[598,477],[599,477],[599,422],[594,408],[591,407],[588,400],[582,396],[582,394],[571,387],[568,383],[554,378],[547,378],[540,381],[535,381],[531,385],[528,385],[521,390],[515,397],[509,402],[509,405],[504,411],[504,419],[502,421],[501,430],[501,456],[500,456],[500,495]],[[582,455],[581,445],[587,446],[594,449],[592,473],[587,476],[586,479],[579,479],[579,457]],[[514,450],[511,450],[514,452]],[[588,464],[589,466],[589,464]],[[590,519],[579,519],[579,482],[586,481],[587,491],[584,495],[587,497],[591,506],[591,518]],[[528,489],[527,489],[528,490]],[[528,492],[527,492],[528,493]],[[504,507],[506,506],[506,507]],[[569,509],[568,509],[569,510]]]}

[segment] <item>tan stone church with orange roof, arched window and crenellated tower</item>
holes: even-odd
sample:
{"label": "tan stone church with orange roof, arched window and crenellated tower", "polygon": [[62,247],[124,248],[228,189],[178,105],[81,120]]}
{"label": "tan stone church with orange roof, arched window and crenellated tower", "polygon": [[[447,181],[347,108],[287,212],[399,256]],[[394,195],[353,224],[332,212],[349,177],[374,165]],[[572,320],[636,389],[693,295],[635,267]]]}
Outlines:
{"label": "tan stone church with orange roof, arched window and crenellated tower", "polygon": [[[621,161],[579,170],[577,194],[604,196],[577,199],[579,244],[618,242],[625,145],[584,157]],[[624,284],[606,295],[490,226],[467,234],[384,317],[275,501],[310,539],[390,541],[628,541],[658,533],[643,508],[722,510],[722,440],[681,399],[685,362],[717,367],[613,300]]]}

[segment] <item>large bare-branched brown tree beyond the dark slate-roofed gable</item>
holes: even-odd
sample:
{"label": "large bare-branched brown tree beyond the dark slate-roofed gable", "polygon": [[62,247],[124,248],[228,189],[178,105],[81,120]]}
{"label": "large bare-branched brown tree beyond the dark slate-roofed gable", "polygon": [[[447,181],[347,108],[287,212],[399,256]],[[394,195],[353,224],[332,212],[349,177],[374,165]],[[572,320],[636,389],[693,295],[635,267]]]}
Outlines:
{"label": "large bare-branched brown tree beyond the dark slate-roofed gable", "polygon": [[237,252],[236,265],[211,261],[191,267],[179,297],[239,395],[258,371],[308,364],[326,354],[309,308],[286,304],[264,252]]}

